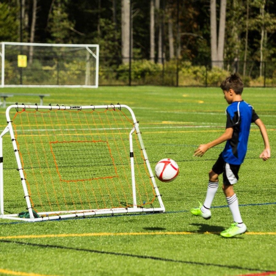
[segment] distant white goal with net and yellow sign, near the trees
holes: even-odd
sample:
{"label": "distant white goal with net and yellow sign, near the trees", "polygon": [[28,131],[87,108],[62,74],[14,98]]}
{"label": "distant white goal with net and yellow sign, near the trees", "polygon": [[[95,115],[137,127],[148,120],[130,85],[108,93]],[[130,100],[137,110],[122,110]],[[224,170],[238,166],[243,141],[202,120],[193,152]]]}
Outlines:
{"label": "distant white goal with net and yellow sign, near the trees", "polygon": [[98,87],[99,45],[1,42],[1,87]]}

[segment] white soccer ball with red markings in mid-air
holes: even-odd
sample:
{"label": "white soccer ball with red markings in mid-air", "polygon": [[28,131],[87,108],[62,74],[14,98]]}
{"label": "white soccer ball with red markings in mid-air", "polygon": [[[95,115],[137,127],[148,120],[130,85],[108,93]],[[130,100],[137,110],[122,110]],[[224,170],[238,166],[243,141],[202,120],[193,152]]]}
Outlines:
{"label": "white soccer ball with red markings in mid-air", "polygon": [[155,175],[162,182],[173,181],[179,173],[177,163],[170,158],[160,160],[155,166]]}

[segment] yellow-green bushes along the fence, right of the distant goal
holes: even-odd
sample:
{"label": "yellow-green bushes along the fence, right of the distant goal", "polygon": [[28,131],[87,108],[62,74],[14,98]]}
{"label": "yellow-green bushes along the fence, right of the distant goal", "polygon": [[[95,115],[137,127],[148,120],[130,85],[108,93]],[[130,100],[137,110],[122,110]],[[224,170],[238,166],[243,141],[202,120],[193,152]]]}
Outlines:
{"label": "yellow-green bushes along the fence, right of the distant goal", "polygon": [[[178,68],[178,75],[177,75]],[[154,63],[146,59],[134,60],[131,63],[132,85],[164,85],[176,86],[177,77],[179,86],[220,86],[221,82],[231,74],[230,71],[205,65],[193,65],[190,61],[171,60],[164,64]],[[276,71],[271,73],[272,78],[266,78],[267,86],[276,83]],[[127,85],[129,82],[129,64],[121,64],[117,68],[104,67],[99,73],[100,84]],[[250,76],[242,77],[244,86],[263,86],[264,79],[252,79]]]}

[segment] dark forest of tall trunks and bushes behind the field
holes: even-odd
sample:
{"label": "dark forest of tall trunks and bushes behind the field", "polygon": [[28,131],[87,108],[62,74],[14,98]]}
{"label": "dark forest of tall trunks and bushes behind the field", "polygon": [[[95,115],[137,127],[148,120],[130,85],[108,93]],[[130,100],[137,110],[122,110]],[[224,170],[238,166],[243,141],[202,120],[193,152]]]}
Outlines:
{"label": "dark forest of tall trunks and bushes behind the field", "polygon": [[274,0],[2,0],[0,41],[99,44],[99,85],[276,86]]}

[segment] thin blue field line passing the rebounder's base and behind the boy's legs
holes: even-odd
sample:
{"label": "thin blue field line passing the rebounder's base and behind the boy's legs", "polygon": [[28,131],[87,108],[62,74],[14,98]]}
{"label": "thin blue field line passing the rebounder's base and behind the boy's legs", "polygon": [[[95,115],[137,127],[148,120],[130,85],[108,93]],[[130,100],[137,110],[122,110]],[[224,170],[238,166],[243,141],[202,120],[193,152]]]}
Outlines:
{"label": "thin blue field line passing the rebounder's base and behind the boy's legs", "polygon": [[[276,202],[267,202],[267,203],[249,203],[249,204],[240,204],[240,207],[246,207],[246,206],[261,206],[261,205],[276,205]],[[211,206],[211,208],[225,208],[228,207],[228,205],[221,205],[221,206]],[[178,211],[166,211],[166,214],[173,214],[173,213],[187,213],[190,212],[190,210],[178,210]],[[122,217],[122,216],[141,216],[141,215],[155,215],[157,213],[129,213],[129,214],[116,214],[116,215],[103,215],[103,216],[91,216],[91,217],[78,217],[78,218],[64,218],[64,219],[57,219],[57,220],[46,220],[46,221],[64,221],[64,220],[75,220],[75,219],[92,219],[92,218],[110,218],[110,217]],[[159,214],[159,212],[158,212]],[[45,221],[39,221],[39,222],[45,222]],[[3,222],[0,223],[0,225],[6,225],[6,224],[18,224],[18,223],[29,223],[26,221],[13,221],[13,222]]]}

